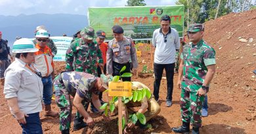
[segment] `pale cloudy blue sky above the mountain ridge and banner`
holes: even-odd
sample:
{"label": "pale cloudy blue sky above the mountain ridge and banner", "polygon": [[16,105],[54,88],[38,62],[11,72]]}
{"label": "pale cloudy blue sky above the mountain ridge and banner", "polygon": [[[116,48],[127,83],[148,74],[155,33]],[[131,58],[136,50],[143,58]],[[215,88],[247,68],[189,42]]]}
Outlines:
{"label": "pale cloudy blue sky above the mountain ridge and banner", "polygon": [[[148,6],[175,5],[176,0],[145,0]],[[127,0],[0,0],[0,15],[87,14],[88,7],[123,7]]]}

